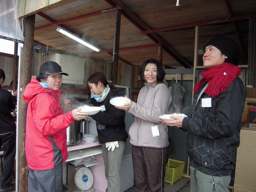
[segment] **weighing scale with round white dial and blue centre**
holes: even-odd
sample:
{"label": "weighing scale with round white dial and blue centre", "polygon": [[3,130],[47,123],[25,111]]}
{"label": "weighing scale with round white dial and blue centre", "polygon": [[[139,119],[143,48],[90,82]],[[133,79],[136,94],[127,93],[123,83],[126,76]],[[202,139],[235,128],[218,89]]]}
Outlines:
{"label": "weighing scale with round white dial and blue centre", "polygon": [[75,167],[68,164],[68,185],[75,188],[76,192],[93,192],[92,171],[84,165]]}

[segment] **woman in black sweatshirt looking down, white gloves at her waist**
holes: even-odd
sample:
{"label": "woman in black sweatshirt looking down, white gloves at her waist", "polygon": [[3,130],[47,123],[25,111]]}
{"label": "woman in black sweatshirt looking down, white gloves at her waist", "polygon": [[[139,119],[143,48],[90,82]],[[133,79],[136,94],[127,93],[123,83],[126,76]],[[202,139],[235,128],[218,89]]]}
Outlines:
{"label": "woman in black sweatshirt looking down, white gloves at her waist", "polygon": [[[121,164],[126,147],[128,134],[125,131],[125,111],[110,104],[110,99],[117,97],[116,88],[108,83],[104,74],[96,72],[86,83],[88,90],[94,94],[91,99],[72,97],[64,100],[68,108],[71,103],[89,103],[94,107],[103,108],[91,117],[96,121],[99,143],[102,144],[102,155],[105,165],[105,176],[108,181],[108,192],[121,192]],[[110,150],[111,149],[111,150]]]}

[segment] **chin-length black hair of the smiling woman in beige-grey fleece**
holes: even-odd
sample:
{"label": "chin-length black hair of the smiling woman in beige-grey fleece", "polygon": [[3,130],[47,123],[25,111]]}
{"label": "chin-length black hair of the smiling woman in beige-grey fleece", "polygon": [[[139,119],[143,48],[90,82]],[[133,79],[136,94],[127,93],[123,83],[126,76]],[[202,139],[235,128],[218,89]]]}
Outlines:
{"label": "chin-length black hair of the smiling woman in beige-grey fleece", "polygon": [[165,72],[164,72],[164,69],[163,69],[161,63],[159,61],[155,60],[155,59],[149,59],[149,60],[146,60],[142,63],[142,66],[141,66],[141,69],[140,69],[140,79],[142,81],[145,81],[144,71],[145,71],[145,68],[146,68],[148,63],[154,63],[156,65],[156,70],[157,70],[156,81],[162,82],[164,80]]}

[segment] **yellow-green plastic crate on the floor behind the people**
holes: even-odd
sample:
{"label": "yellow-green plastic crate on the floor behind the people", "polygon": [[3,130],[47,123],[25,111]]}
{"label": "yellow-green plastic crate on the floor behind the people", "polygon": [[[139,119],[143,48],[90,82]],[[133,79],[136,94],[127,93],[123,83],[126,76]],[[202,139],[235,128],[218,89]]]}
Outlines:
{"label": "yellow-green plastic crate on the floor behind the people", "polygon": [[170,183],[171,185],[177,180],[181,179],[185,166],[184,161],[178,161],[175,159],[168,159],[166,164],[164,182]]}

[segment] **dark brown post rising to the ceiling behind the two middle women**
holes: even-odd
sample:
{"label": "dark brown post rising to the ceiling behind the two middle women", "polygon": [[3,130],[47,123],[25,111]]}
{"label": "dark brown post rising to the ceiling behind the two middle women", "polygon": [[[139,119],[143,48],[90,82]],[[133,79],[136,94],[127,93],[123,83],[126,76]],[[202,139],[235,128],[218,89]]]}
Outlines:
{"label": "dark brown post rising to the ceiling behind the two middle women", "polygon": [[116,10],[115,39],[114,39],[114,53],[113,53],[113,54],[115,54],[115,59],[112,62],[112,83],[113,84],[117,84],[120,28],[121,28],[121,9],[117,9]]}

